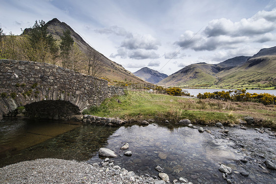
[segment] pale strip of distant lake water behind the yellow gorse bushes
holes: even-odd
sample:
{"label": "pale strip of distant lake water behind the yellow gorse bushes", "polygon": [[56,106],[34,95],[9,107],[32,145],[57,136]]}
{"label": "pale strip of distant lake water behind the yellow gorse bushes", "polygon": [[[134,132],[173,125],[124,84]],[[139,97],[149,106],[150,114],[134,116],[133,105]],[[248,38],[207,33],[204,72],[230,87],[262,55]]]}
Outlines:
{"label": "pale strip of distant lake water behind the yellow gorse bushes", "polygon": [[[188,93],[190,93],[191,95],[193,96],[197,96],[199,93],[203,94],[205,92],[209,92],[209,93],[213,93],[215,91],[229,91],[229,90],[232,90],[234,91],[235,89],[182,89],[182,90],[185,90],[185,91],[188,91]],[[257,93],[257,94],[260,94],[260,93],[269,93],[269,94],[272,94],[272,95],[275,95],[276,96],[276,90],[254,90],[254,89],[247,89],[246,92],[248,93]]]}

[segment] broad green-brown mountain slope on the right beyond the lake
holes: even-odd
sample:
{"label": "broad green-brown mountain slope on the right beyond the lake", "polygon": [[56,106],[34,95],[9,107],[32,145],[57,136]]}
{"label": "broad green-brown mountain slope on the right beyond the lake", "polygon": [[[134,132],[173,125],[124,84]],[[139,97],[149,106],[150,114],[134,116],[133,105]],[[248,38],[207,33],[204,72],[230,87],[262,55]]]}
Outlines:
{"label": "broad green-brown mountain slope on the right beyond the lake", "polygon": [[276,86],[276,47],[218,64],[196,63],[160,81],[166,86],[251,88]]}

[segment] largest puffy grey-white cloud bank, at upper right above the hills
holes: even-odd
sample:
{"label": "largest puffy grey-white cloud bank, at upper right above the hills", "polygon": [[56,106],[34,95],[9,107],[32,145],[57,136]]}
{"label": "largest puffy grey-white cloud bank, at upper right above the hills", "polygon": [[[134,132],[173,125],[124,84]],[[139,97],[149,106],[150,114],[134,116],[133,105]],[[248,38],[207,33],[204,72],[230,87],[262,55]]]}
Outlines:
{"label": "largest puffy grey-white cloud bank, at upper right above the hills", "polygon": [[272,32],[275,30],[276,9],[259,11],[251,18],[238,22],[225,18],[212,20],[199,34],[187,30],[174,45],[194,51],[237,49],[241,44],[274,41],[276,39]]}

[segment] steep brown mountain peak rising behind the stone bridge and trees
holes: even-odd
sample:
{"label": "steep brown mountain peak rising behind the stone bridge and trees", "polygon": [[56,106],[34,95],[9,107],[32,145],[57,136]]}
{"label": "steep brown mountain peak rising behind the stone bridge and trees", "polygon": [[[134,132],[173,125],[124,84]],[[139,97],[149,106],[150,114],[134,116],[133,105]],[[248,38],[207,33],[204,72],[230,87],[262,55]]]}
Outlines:
{"label": "steep brown mountain peak rising behind the stone bridge and trees", "polygon": [[[109,58],[104,56],[102,53],[99,53],[94,48],[89,46],[83,38],[76,33],[70,26],[64,22],[60,22],[58,19],[54,18],[53,20],[46,23],[48,32],[53,35],[57,42],[61,42],[60,36],[63,35],[63,31],[69,29],[71,32],[71,37],[74,39],[75,43],[79,46],[80,50],[83,53],[88,51],[96,52],[100,55],[101,67],[103,69],[103,77],[109,81],[122,81],[122,82],[133,82],[133,83],[145,83],[142,79],[136,77],[131,72],[126,70],[122,65],[111,61]],[[24,32],[28,32],[30,28],[26,28]],[[23,33],[24,34],[24,33]],[[58,64],[58,63],[57,63]],[[59,63],[60,64],[60,63]],[[85,71],[82,71],[85,72]]]}

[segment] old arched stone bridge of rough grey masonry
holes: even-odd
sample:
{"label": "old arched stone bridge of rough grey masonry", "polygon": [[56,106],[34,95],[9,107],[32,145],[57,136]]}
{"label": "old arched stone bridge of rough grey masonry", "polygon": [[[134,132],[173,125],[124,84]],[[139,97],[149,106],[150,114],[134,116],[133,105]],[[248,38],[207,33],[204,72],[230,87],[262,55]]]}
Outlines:
{"label": "old arched stone bridge of rough grey masonry", "polygon": [[0,60],[0,119],[17,115],[24,106],[28,117],[68,120],[121,94],[123,89],[109,86],[107,80],[56,65]]}

